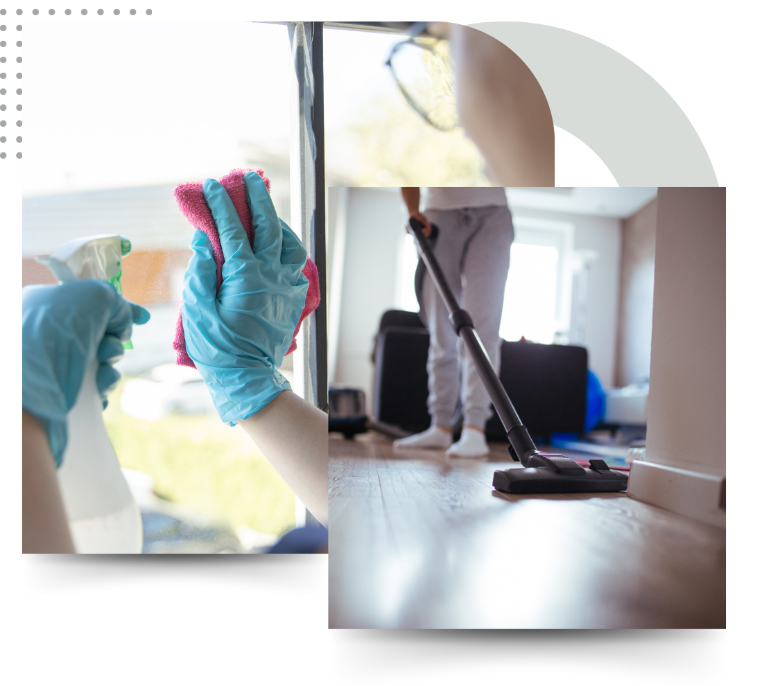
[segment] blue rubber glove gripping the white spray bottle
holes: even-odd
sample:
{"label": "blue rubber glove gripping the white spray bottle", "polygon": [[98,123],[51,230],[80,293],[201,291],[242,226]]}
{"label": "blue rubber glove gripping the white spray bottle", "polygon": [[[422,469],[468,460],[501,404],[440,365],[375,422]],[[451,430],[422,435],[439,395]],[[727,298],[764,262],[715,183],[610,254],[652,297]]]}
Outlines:
{"label": "blue rubber glove gripping the white spray bottle", "polygon": [[97,354],[97,389],[106,396],[121,378],[112,364],[124,353],[133,323],[149,313],[105,281],[22,288],[22,408],[48,434],[57,466],[68,442],[66,415],[76,404],[84,370]]}

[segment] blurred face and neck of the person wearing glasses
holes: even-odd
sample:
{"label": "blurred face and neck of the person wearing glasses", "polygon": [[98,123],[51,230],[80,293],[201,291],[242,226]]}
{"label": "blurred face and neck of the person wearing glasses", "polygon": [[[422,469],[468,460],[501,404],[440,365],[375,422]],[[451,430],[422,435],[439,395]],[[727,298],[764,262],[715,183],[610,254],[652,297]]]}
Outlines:
{"label": "blurred face and neck of the person wearing glasses", "polygon": [[505,44],[452,24],[463,129],[499,186],[555,186],[555,127],[534,74]]}

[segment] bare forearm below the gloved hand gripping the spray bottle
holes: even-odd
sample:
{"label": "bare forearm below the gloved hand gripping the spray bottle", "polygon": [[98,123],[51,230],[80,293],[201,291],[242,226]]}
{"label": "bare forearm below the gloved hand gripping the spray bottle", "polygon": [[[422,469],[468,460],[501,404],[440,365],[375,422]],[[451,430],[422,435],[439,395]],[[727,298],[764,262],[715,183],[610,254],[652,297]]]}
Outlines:
{"label": "bare forearm below the gloved hand gripping the spray bottle", "polygon": [[75,553],[48,438],[22,410],[22,553]]}

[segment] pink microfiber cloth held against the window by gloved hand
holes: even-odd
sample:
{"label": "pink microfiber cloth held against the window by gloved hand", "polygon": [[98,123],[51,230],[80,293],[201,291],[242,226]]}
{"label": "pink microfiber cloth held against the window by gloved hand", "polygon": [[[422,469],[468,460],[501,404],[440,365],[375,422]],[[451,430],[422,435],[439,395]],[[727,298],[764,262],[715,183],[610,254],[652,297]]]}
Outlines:
{"label": "pink microfiber cloth held against the window by gloved hand", "polygon": [[[257,172],[260,178],[263,179],[265,187],[269,191],[271,190],[271,181],[264,175],[262,169],[233,169],[228,175],[219,179],[219,182],[228,192],[249,238],[249,244],[254,247],[254,226],[252,225],[249,205],[246,204],[246,190],[243,183],[243,175],[247,171]],[[217,263],[217,292],[219,292],[219,287],[222,285],[222,265],[225,264],[225,255],[222,253],[217,226],[214,223],[214,218],[211,217],[211,210],[208,209],[203,195],[203,183],[183,183],[180,186],[176,186],[173,195],[176,197],[176,204],[179,205],[179,210],[190,221],[190,224],[204,232],[211,240],[211,246],[214,248],[214,260]],[[317,267],[314,266],[314,262],[312,262],[310,257],[306,258],[303,275],[309,280],[306,304],[303,306],[303,313],[301,313],[300,320],[298,320],[298,324],[295,327],[293,342],[285,355],[289,355],[297,348],[295,339],[298,331],[300,331],[301,323],[320,304],[320,278],[317,274]],[[190,359],[190,355],[187,355],[181,306],[179,306],[179,321],[176,324],[176,338],[173,339],[173,349],[176,350],[176,364],[195,369],[195,363]]]}

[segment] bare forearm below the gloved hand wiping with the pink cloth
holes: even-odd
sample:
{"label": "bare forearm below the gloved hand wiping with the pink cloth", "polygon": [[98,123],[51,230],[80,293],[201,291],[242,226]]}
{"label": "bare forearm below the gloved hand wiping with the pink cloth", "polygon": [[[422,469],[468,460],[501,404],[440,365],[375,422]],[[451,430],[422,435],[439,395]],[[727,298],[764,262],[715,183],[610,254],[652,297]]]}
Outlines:
{"label": "bare forearm below the gloved hand wiping with the pink cloth", "polygon": [[292,391],[282,391],[239,425],[317,521],[327,526],[328,415]]}

